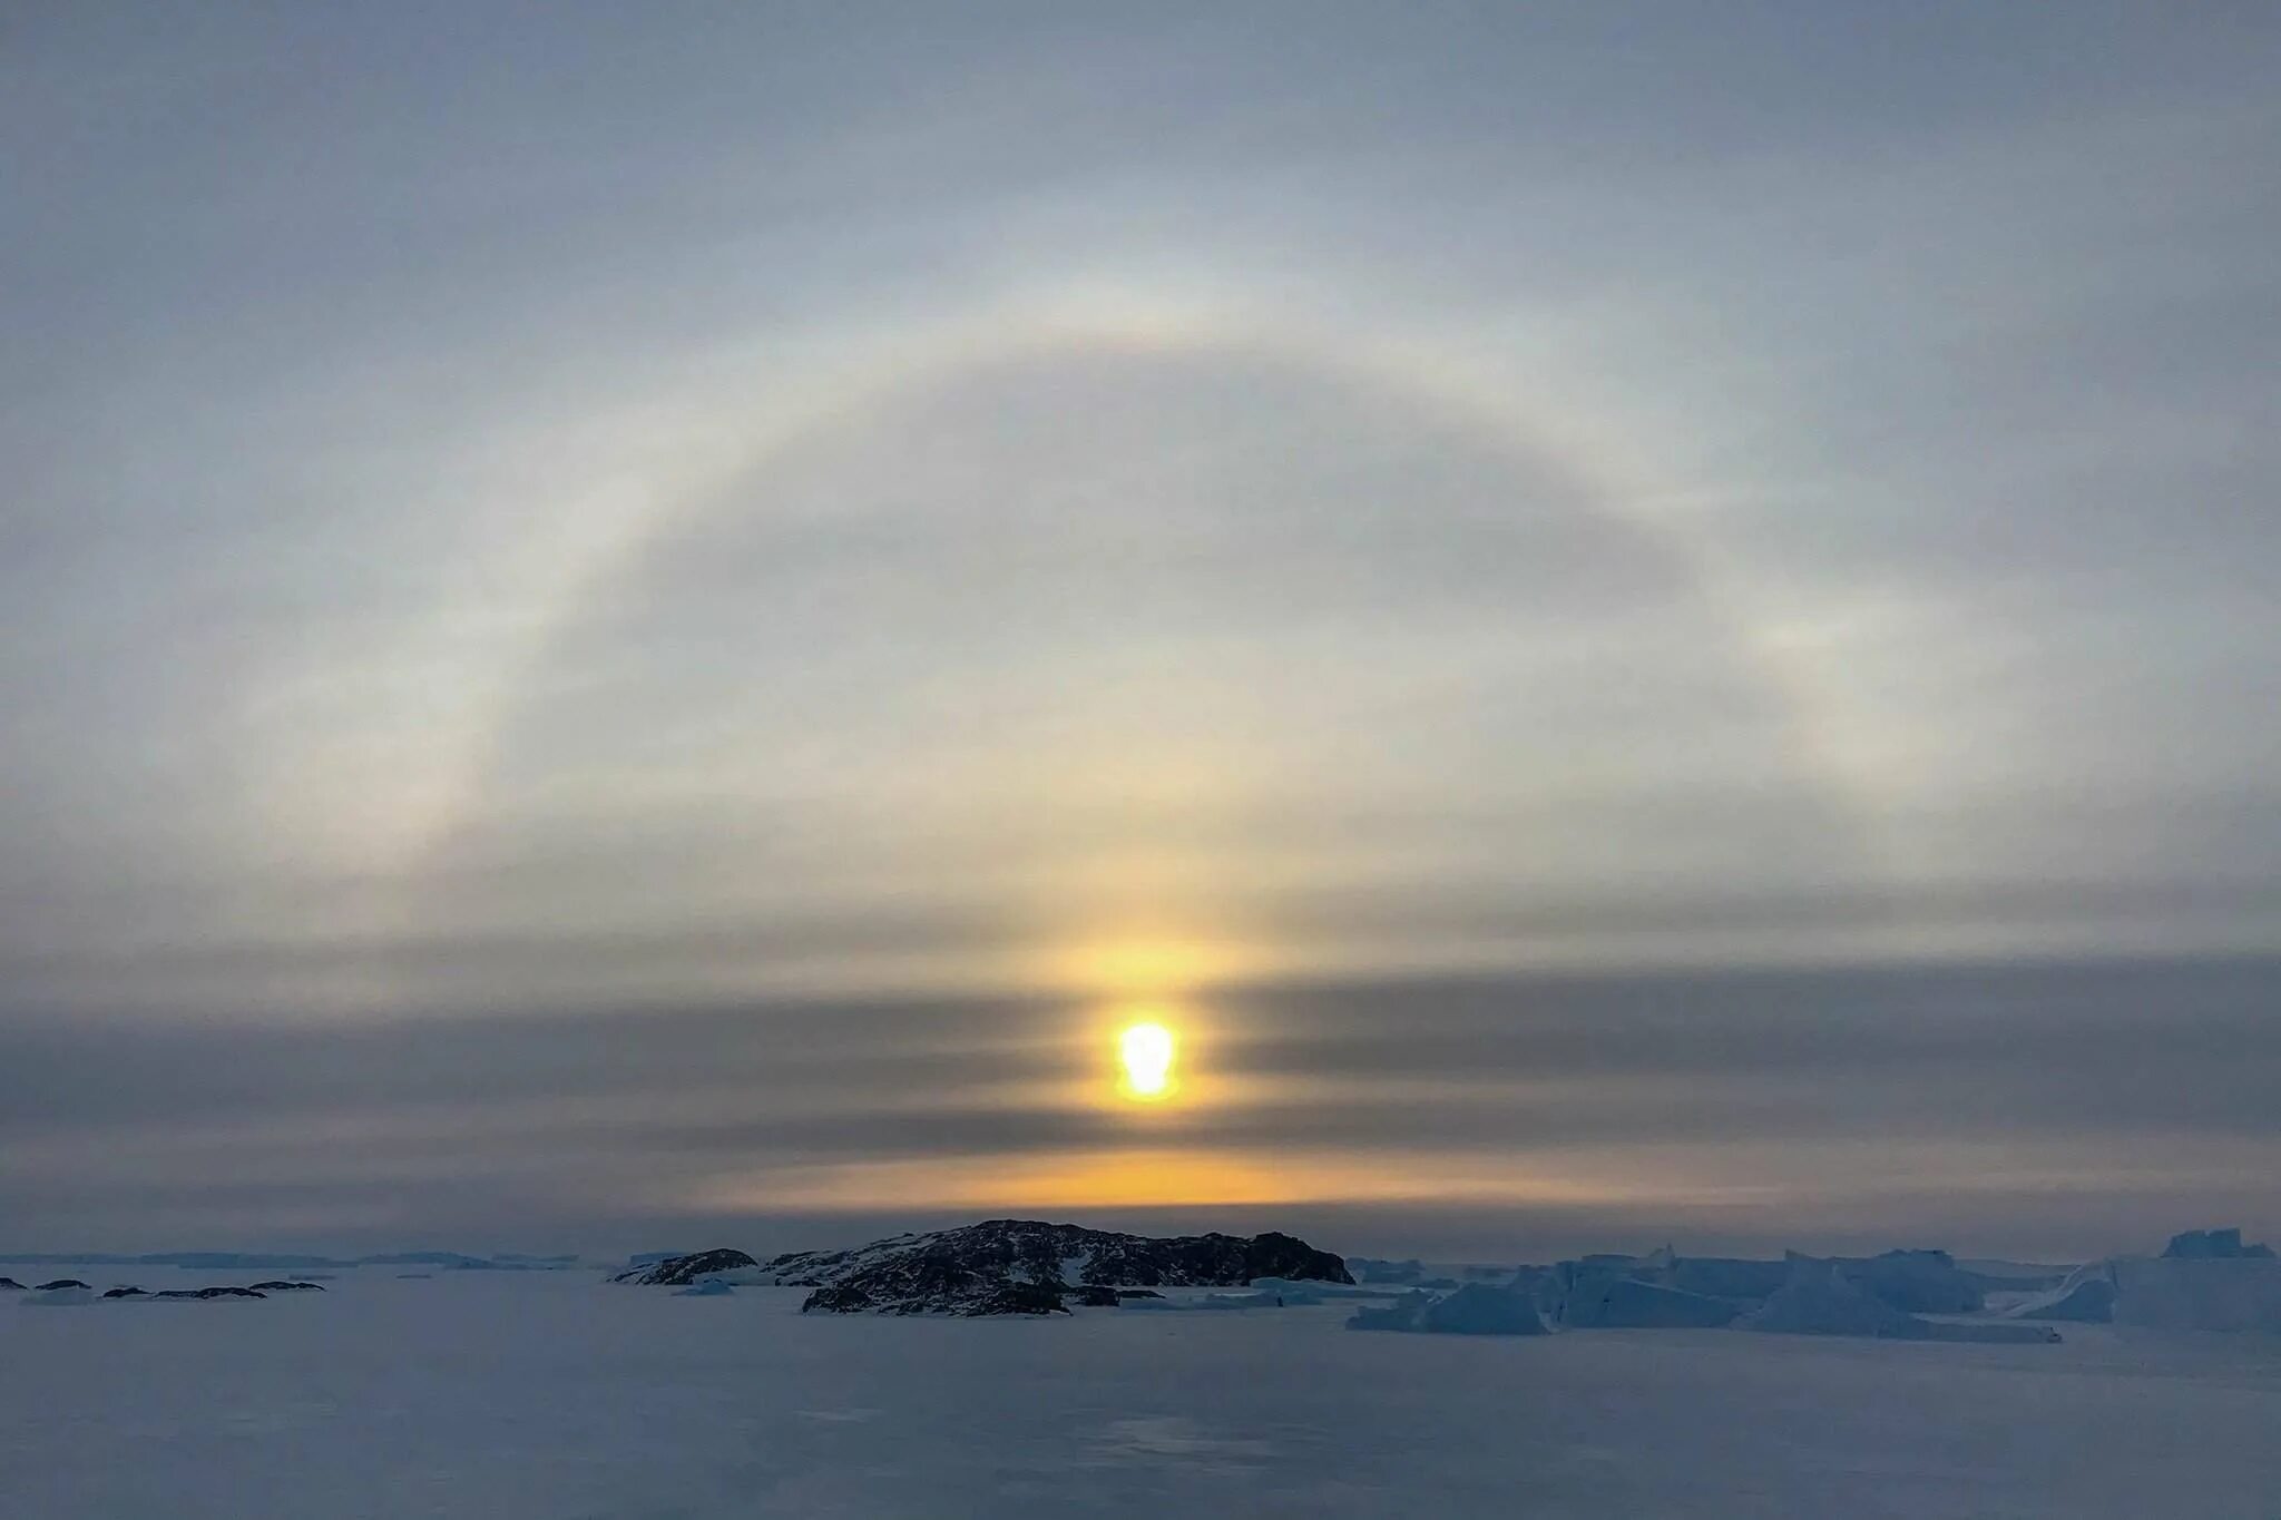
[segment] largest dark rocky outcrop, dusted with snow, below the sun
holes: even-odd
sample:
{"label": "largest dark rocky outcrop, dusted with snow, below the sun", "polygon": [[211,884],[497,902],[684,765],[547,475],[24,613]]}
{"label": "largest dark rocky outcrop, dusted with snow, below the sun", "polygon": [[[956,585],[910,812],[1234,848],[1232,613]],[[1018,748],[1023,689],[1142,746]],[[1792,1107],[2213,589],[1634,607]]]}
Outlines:
{"label": "largest dark rocky outcrop, dusted with snow, below the sun", "polygon": [[[894,1235],[853,1251],[794,1251],[762,1272],[782,1285],[814,1288],[803,1308],[890,1315],[1036,1315],[1058,1310],[1068,1294],[1118,1288],[1353,1283],[1337,1256],[1273,1231],[1150,1237],[1036,1219]],[[1081,1301],[1106,1306],[1111,1297]]]}

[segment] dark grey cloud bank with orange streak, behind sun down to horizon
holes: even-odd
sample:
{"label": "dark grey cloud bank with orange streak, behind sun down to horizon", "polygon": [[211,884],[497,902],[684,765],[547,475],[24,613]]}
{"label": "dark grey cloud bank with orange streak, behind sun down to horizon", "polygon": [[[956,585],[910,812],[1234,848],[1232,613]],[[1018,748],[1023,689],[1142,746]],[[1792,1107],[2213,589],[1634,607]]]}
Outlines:
{"label": "dark grey cloud bank with orange streak, behind sun down to horizon", "polygon": [[[1099,1210],[1373,1203],[1391,1228],[1469,1203],[1519,1228],[1558,1203],[1617,1228],[1661,1206],[1775,1244],[1784,1201],[1802,1228],[1836,1228],[1823,1215],[1854,1217],[1834,1203],[1852,1190],[1900,1194],[1939,1231],[2044,1199],[2048,1249],[2048,1194],[2080,1201],[2076,1231],[2162,1176],[2256,1208],[2276,975],[2124,962],[1229,989],[1175,1014],[1188,1101],[1145,1114],[1109,1096],[1109,1030],[1054,998],[14,1019],[0,1199],[23,1228],[59,1228],[208,1194],[253,1221],[381,1194],[417,1221],[484,1196],[518,1237],[577,1240],[646,1217],[1017,1208],[1024,1187],[1070,1210],[1090,1178]],[[1957,1190],[1946,1212],[1937,1180]],[[1713,1219],[1724,1206],[1745,1215]]]}

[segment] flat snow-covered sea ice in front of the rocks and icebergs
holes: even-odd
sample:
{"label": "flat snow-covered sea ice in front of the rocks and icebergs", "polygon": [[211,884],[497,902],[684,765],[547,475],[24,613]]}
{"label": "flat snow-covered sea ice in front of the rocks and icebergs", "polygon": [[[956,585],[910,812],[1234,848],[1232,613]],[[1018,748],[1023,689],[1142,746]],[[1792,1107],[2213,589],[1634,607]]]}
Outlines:
{"label": "flat snow-covered sea ice in front of the rocks and icebergs", "polygon": [[584,1272],[326,1288],[0,1299],[0,1515],[2281,1515],[2281,1338],[1476,1340],[1346,1333],[1346,1301],[890,1319]]}

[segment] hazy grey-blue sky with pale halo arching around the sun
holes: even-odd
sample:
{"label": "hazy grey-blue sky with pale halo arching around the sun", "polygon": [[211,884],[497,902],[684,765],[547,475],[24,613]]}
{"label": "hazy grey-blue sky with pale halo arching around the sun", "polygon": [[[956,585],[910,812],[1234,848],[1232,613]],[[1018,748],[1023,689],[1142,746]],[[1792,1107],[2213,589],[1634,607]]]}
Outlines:
{"label": "hazy grey-blue sky with pale halo arching around the sun", "polygon": [[0,1247],[2281,1233],[2276,73],[9,9]]}

